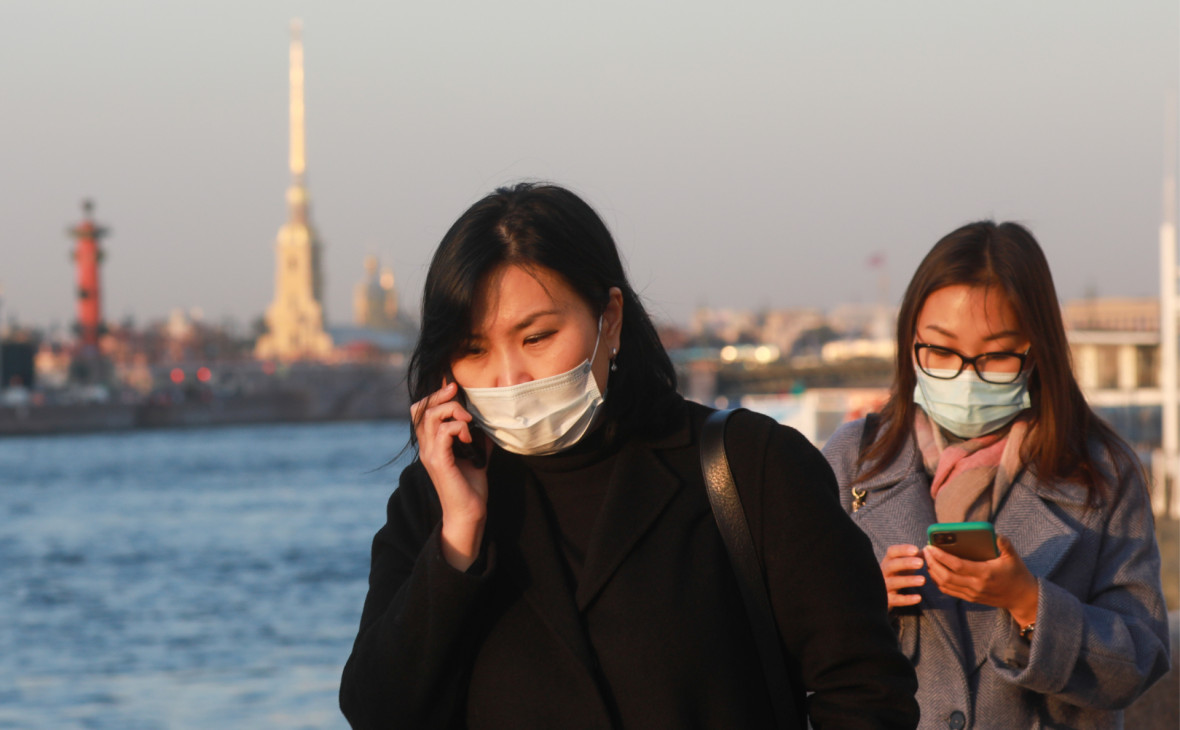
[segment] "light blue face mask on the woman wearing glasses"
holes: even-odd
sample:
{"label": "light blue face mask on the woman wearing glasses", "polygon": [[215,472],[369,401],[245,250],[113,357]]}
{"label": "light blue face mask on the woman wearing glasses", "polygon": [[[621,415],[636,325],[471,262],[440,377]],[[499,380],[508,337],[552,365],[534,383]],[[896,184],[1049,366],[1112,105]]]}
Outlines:
{"label": "light blue face mask on the woman wearing glasses", "polygon": [[[918,384],[913,387],[913,402],[922,407],[935,423],[961,439],[975,439],[1005,426],[1020,412],[1032,405],[1029,397],[1029,371],[1021,373],[1005,384],[979,380],[971,368],[958,377],[942,380],[914,368]],[[935,370],[951,376],[953,370]]]}

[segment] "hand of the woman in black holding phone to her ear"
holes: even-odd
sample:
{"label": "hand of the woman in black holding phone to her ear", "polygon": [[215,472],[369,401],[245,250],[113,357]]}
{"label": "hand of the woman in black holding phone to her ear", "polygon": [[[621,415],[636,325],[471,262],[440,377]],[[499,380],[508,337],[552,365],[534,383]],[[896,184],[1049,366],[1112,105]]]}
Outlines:
{"label": "hand of the woman in black holding phone to her ear", "polygon": [[[479,557],[487,519],[487,469],[455,459],[458,439],[471,443],[471,414],[454,400],[459,387],[448,382],[409,408],[418,436],[418,456],[442,505],[442,558],[465,571]],[[491,443],[484,446],[489,452]]]}

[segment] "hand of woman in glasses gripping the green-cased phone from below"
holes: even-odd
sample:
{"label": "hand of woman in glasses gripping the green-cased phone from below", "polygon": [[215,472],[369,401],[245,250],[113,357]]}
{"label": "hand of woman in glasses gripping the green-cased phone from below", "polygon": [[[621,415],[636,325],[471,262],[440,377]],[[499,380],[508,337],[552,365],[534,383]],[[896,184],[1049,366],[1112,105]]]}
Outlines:
{"label": "hand of woman in glasses gripping the green-cased phone from below", "polygon": [[948,596],[1005,609],[1021,626],[1036,620],[1036,577],[1004,535],[996,538],[999,557],[964,560],[932,545],[924,548],[930,577]]}

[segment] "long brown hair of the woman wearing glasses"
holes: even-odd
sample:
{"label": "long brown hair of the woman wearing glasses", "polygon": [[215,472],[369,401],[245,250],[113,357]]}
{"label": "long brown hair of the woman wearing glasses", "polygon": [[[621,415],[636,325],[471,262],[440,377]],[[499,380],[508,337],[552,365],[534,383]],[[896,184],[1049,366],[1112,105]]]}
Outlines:
{"label": "long brown hair of the woman wearing glasses", "polygon": [[[858,478],[880,474],[902,453],[913,430],[913,336],[918,314],[932,292],[944,287],[995,287],[1003,291],[1031,343],[1029,396],[1032,428],[1024,443],[1024,461],[1040,479],[1080,481],[1089,501],[1097,504],[1112,479],[1141,467],[1127,443],[1090,409],[1074,379],[1073,359],[1061,320],[1049,262],[1032,234],[1017,223],[969,223],[935,244],[918,264],[897,317],[897,371],[890,399],[881,409],[881,433],[865,451],[863,463],[873,463]],[[1087,441],[1096,438],[1114,462],[1106,474]]]}

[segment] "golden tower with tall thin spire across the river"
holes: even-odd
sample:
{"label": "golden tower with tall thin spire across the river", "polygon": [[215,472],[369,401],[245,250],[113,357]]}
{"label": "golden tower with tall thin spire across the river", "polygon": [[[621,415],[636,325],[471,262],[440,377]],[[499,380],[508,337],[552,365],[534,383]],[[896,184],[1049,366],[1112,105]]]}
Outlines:
{"label": "golden tower with tall thin spire across the river", "polygon": [[323,329],[323,274],[320,238],[312,225],[304,182],[303,44],[301,24],[291,21],[289,217],[275,244],[275,300],[267,309],[267,333],[255,355],[282,361],[327,360],[332,337]]}

